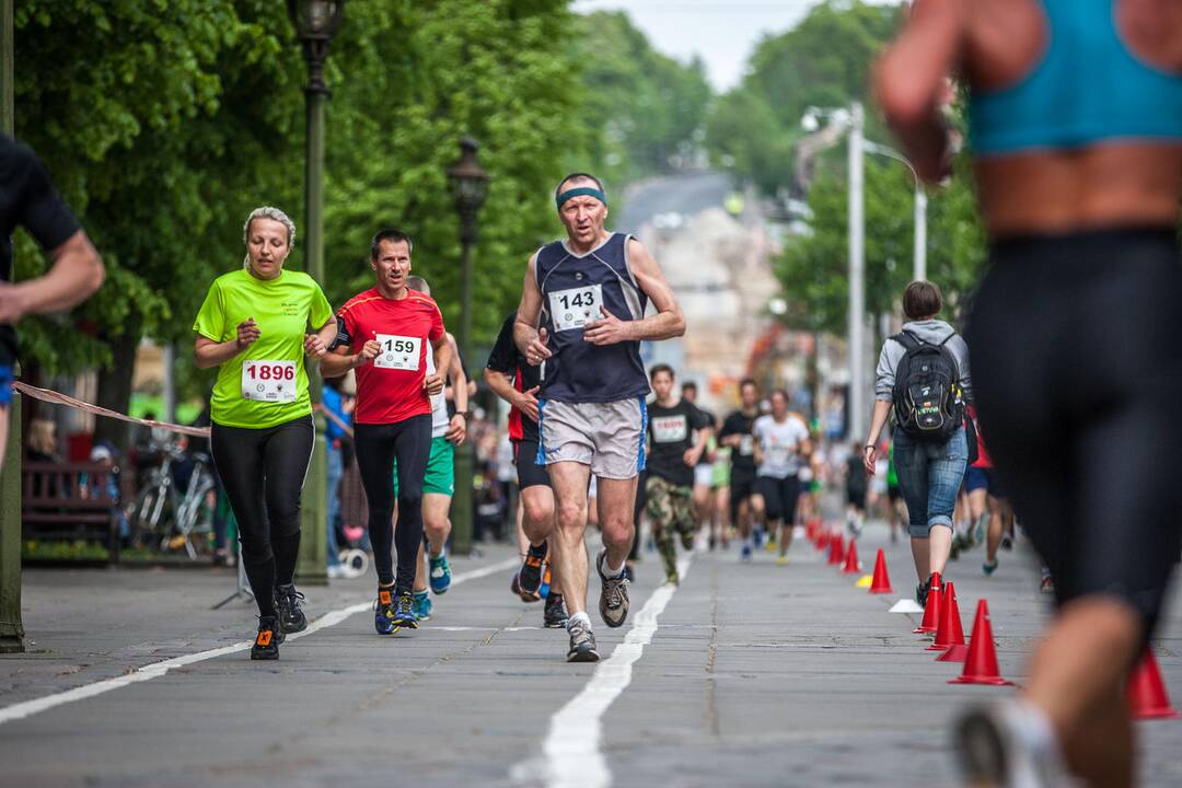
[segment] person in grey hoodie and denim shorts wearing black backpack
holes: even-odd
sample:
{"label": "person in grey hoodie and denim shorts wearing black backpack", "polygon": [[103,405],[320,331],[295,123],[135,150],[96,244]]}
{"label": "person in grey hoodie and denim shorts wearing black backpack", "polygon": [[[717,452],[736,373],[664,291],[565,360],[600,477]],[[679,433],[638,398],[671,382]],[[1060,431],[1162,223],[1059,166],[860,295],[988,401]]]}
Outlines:
{"label": "person in grey hoodie and denim shorts wearing black backpack", "polygon": [[[895,467],[908,510],[911,555],[920,585],[915,599],[928,600],[931,575],[944,572],[953,543],[953,508],[969,442],[965,406],[973,398],[968,345],[949,324],[937,320],[940,288],[914,281],[903,292],[903,330],[883,343],[875,379],[870,434],[862,449],[872,476],[878,438],[895,415]],[[974,439],[975,448],[975,439]]]}

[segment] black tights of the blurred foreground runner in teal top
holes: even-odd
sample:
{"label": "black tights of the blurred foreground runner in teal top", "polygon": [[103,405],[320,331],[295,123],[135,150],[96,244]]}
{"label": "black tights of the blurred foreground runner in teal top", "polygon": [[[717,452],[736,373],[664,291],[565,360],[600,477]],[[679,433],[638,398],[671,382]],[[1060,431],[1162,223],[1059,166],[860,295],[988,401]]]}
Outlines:
{"label": "black tights of the blurred foreground runner in teal top", "polygon": [[998,242],[966,338],[982,435],[1059,604],[1152,632],[1182,542],[1182,265],[1173,229]]}

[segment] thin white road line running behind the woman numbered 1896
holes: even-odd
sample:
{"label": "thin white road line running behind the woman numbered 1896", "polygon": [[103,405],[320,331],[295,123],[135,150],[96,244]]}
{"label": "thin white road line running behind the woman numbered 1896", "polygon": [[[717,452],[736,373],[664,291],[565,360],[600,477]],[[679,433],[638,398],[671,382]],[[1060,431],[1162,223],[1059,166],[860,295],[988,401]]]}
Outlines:
{"label": "thin white road line running behind the woman numbered 1896", "polygon": [[[508,559],[499,564],[493,564],[491,566],[481,567],[479,569],[473,569],[472,572],[463,572],[461,574],[452,578],[452,585],[457,586],[468,580],[478,580],[480,578],[488,577],[496,572],[512,568],[517,566],[519,559]],[[355,613],[361,613],[374,607],[372,601],[358,603],[356,605],[350,605],[349,607],[342,607],[340,610],[335,610],[330,613],[325,613],[320,618],[316,619],[307,625],[307,629],[303,632],[296,632],[287,636],[287,640],[296,640],[303,638],[313,632],[319,632],[330,626],[336,626],[340,624],[350,616]],[[431,627],[435,629],[435,627]],[[442,629],[442,627],[440,627]],[[32,717],[35,714],[43,711],[48,711],[59,705],[66,703],[73,703],[74,701],[85,701],[86,698],[92,698],[97,695],[103,695],[104,692],[110,692],[111,690],[117,690],[121,686],[128,686],[129,684],[137,684],[139,682],[149,682],[154,678],[160,678],[164,673],[174,670],[176,667],[184,667],[186,665],[191,665],[194,663],[204,662],[207,659],[214,659],[216,657],[225,657],[226,655],[232,655],[238,651],[246,651],[251,647],[254,640],[246,640],[242,643],[235,643],[233,645],[222,646],[220,649],[210,649],[208,651],[199,651],[197,653],[186,655],[183,657],[174,657],[171,659],[165,659],[163,662],[151,663],[144,665],[143,667],[135,669],[135,672],[126,673],[125,676],[116,676],[113,678],[105,678],[91,684],[84,684],[83,686],[76,686],[72,690],[65,690],[64,692],[56,692],[53,695],[46,695],[41,698],[34,698],[32,701],[24,701],[21,703],[14,703],[11,706],[5,706],[0,709],[0,724],[6,722],[12,722],[14,719],[24,719],[26,717]]]}

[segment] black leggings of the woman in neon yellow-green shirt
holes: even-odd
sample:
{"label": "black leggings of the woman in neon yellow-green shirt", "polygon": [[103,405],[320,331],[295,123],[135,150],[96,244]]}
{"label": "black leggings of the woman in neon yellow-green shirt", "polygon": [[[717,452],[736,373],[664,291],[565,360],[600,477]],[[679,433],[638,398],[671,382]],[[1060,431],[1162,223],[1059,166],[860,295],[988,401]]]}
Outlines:
{"label": "black leggings of the woman in neon yellow-green shirt", "polygon": [[209,436],[242,542],[242,566],[260,616],[274,616],[273,590],[288,585],[299,555],[299,507],[312,458],[311,416],[266,429],[214,424]]}

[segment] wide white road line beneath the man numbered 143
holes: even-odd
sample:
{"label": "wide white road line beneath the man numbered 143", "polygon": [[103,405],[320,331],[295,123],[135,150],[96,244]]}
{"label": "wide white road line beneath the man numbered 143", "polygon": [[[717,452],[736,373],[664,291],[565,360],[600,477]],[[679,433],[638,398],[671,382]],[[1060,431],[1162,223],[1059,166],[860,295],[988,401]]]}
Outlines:
{"label": "wide white road line beneath the man numbered 143", "polygon": [[[693,553],[677,561],[682,580],[689,573]],[[657,617],[677,591],[664,584],[652,592],[644,607],[632,619],[632,629],[616,646],[606,662],[599,663],[583,691],[559,709],[550,719],[550,732],[543,743],[543,757],[515,766],[511,776],[532,782],[545,775],[546,788],[608,788],[611,769],[599,749],[603,738],[603,715],[632,682],[632,664],[644,653],[657,631]]]}

